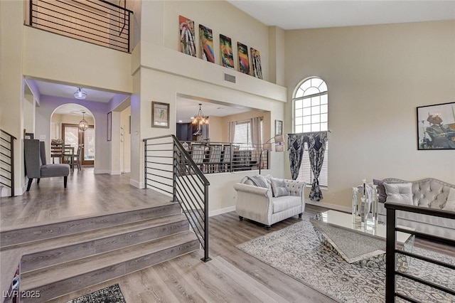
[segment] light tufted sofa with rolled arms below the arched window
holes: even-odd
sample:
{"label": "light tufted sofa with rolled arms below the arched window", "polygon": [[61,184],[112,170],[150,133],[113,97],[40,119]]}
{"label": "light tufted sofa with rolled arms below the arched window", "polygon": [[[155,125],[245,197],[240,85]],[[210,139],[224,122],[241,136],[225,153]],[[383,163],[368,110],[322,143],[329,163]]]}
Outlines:
{"label": "light tufted sofa with rolled arms below the arched window", "polygon": [[301,218],[305,210],[305,182],[258,175],[243,178],[234,188],[235,211],[240,220],[244,217],[254,220],[264,224],[267,230],[270,225],[292,216]]}

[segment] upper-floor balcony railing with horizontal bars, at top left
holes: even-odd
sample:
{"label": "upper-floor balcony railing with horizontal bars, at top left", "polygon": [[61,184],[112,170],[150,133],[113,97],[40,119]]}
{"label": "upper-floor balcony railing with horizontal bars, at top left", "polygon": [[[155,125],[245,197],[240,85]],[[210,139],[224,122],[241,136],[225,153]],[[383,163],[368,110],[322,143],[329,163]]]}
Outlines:
{"label": "upper-floor balcony railing with horizontal bars, at top left", "polygon": [[132,14],[105,0],[29,0],[26,24],[129,53]]}

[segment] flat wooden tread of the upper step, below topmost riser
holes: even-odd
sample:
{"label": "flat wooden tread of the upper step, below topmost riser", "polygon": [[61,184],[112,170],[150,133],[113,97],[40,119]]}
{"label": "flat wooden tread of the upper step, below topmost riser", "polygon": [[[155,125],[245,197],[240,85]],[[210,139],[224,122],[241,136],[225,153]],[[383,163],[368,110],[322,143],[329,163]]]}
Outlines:
{"label": "flat wooden tread of the upper step, below topmost riser", "polygon": [[158,218],[151,218],[147,220],[141,220],[132,223],[124,223],[121,225],[112,225],[106,228],[100,228],[97,230],[83,231],[70,235],[61,235],[59,237],[37,240],[33,242],[21,243],[16,245],[9,245],[0,250],[9,250],[13,248],[26,248],[26,254],[32,254],[43,250],[53,250],[55,248],[63,248],[70,245],[76,245],[79,243],[85,243],[93,240],[100,240],[103,238],[114,237],[122,235],[124,233],[132,233],[148,228],[154,228],[160,225],[166,225],[176,223],[180,221],[186,221],[186,216],[183,213],[171,216],[163,216]]}

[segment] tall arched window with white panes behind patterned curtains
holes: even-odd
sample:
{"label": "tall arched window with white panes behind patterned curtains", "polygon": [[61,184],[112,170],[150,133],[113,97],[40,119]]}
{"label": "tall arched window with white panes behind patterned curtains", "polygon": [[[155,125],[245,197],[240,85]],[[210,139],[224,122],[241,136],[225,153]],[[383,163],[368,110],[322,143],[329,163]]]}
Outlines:
{"label": "tall arched window with white panes behind patterned curtains", "polygon": [[[328,90],[321,78],[309,78],[300,83],[294,97],[294,132],[323,132],[328,130]],[[308,145],[305,143],[297,180],[313,184]],[[319,186],[328,186],[328,142],[319,174]]]}

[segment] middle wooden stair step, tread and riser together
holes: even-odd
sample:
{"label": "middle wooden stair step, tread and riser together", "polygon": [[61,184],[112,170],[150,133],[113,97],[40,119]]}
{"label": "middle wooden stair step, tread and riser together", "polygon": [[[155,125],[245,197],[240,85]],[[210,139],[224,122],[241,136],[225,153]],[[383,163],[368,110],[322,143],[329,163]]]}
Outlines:
{"label": "middle wooden stair step, tread and riser together", "polygon": [[92,230],[90,233],[77,233],[26,243],[20,245],[27,251],[21,259],[21,271],[28,272],[40,267],[116,250],[184,230],[189,230],[189,223],[186,216],[179,213]]}

